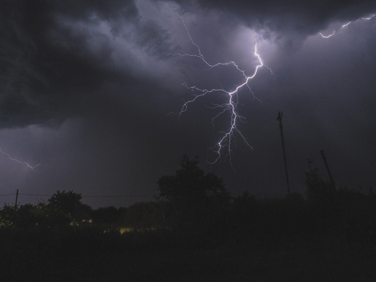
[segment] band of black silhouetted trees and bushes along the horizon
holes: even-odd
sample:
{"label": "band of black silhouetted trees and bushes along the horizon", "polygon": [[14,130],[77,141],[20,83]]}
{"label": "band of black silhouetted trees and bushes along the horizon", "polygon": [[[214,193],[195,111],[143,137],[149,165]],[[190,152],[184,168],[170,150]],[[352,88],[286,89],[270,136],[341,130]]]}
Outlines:
{"label": "band of black silhouetted trees and bushes along the horizon", "polygon": [[310,240],[327,234],[346,243],[376,242],[376,195],[371,188],[368,193],[336,188],[309,166],[306,197],[297,192],[283,198],[257,199],[248,192],[232,197],[223,179],[205,173],[197,158],[184,155],[180,165],[175,174],[159,178],[156,201],[93,209],[82,203],[80,194],[58,190],[37,204],[5,204],[0,209],[0,228],[66,226],[84,211],[93,224],[171,230],[179,238],[206,243]]}

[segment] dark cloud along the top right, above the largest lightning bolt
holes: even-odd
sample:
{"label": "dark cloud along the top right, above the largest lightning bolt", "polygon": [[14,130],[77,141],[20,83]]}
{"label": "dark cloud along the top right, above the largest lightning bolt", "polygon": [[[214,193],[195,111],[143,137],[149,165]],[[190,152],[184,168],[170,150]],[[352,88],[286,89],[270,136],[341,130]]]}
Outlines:
{"label": "dark cloud along the top right, above the largest lightning bolt", "polygon": [[[184,9],[217,10],[231,14],[231,19],[272,39],[285,49],[296,50],[307,36],[317,34],[334,21],[354,21],[376,12],[376,2],[363,1],[248,1],[198,0],[177,1]],[[192,5],[195,3],[195,5]],[[199,7],[199,8],[198,8]]]}

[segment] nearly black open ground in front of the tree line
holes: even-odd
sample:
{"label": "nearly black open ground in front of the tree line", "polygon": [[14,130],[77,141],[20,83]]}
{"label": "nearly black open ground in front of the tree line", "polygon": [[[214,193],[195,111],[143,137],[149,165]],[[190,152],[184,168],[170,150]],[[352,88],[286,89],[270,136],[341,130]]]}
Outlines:
{"label": "nearly black open ground in front of the tree line", "polygon": [[2,281],[376,281],[374,244],[243,242],[94,228],[2,230]]}

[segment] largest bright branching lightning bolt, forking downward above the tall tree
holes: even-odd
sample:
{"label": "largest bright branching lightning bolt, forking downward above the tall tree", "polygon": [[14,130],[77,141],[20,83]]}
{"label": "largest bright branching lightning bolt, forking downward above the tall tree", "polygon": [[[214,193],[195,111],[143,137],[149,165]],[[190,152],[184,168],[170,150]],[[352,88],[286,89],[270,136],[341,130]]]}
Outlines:
{"label": "largest bright branching lightning bolt, forking downward above the tall tree", "polygon": [[[215,65],[211,65],[210,63],[208,63],[208,61],[205,60],[204,55],[201,53],[200,47],[193,41],[193,39],[192,39],[192,37],[191,37],[191,35],[189,33],[189,30],[187,29],[187,27],[186,27],[183,19],[179,15],[177,15],[177,16],[181,20],[181,22],[182,22],[182,24],[183,24],[183,26],[184,26],[184,28],[186,30],[186,33],[187,33],[188,37],[190,38],[192,44],[194,46],[196,46],[199,55],[186,54],[186,53],[175,53],[175,54],[163,53],[163,54],[171,55],[171,56],[181,56],[181,57],[187,56],[187,57],[198,58],[198,59],[202,60],[209,67],[209,69],[207,69],[207,70],[211,70],[211,69],[219,67],[219,66],[233,66],[244,77],[243,84],[241,84],[238,87],[234,88],[233,91],[231,91],[231,92],[225,91],[224,89],[210,89],[210,90],[208,90],[208,89],[200,89],[200,88],[198,88],[196,86],[187,86],[185,82],[182,83],[182,85],[184,85],[187,89],[190,89],[192,91],[198,92],[199,94],[194,94],[194,98],[192,100],[187,101],[187,102],[185,102],[183,104],[180,112],[178,113],[179,117],[181,116],[181,114],[183,112],[185,112],[188,109],[188,107],[189,107],[190,104],[194,103],[197,99],[200,99],[200,98],[202,98],[202,97],[204,97],[204,96],[206,96],[208,94],[211,94],[211,93],[214,93],[214,92],[221,92],[221,93],[224,93],[224,94],[226,94],[228,96],[228,101],[226,103],[224,103],[224,104],[212,104],[213,107],[210,107],[212,109],[215,109],[215,108],[221,109],[220,113],[218,115],[216,115],[212,119],[212,124],[213,124],[214,120],[217,119],[219,116],[221,116],[222,114],[224,114],[226,112],[230,112],[230,114],[231,114],[230,125],[231,126],[230,126],[230,128],[226,132],[224,132],[224,131],[221,132],[223,134],[223,137],[220,138],[219,142],[214,147],[210,148],[210,150],[212,150],[217,155],[217,157],[215,158],[215,160],[213,162],[209,162],[209,163],[210,164],[215,164],[221,158],[221,152],[223,152],[227,148],[227,150],[226,150],[227,151],[226,157],[229,156],[230,164],[232,166],[231,148],[232,148],[232,145],[234,144],[233,139],[235,139],[235,136],[234,136],[235,133],[237,133],[238,135],[240,135],[240,137],[243,139],[243,141],[245,142],[245,144],[248,147],[250,147],[251,149],[253,149],[253,147],[249,144],[249,142],[247,141],[247,139],[244,137],[244,135],[242,134],[242,132],[237,127],[237,123],[238,122],[243,122],[244,123],[246,121],[245,117],[239,115],[238,112],[237,112],[237,105],[239,104],[238,95],[237,95],[238,91],[240,89],[242,89],[243,87],[248,87],[250,93],[253,96],[253,99],[256,99],[256,100],[260,101],[254,95],[254,93],[252,92],[252,90],[251,90],[250,86],[248,85],[248,83],[249,83],[250,80],[252,80],[256,76],[257,71],[260,68],[262,68],[262,67],[266,67],[270,71],[271,75],[274,76],[273,71],[268,66],[266,66],[263,63],[263,61],[261,60],[260,55],[257,53],[257,47],[260,46],[259,37],[257,37],[257,42],[255,44],[255,49],[254,49],[254,55],[257,57],[259,63],[256,66],[255,71],[253,72],[253,74],[251,76],[247,76],[246,73],[245,73],[245,71],[239,69],[238,65],[235,62],[233,62],[233,61],[227,62],[227,63],[217,63]],[[163,54],[160,54],[160,55],[163,55]],[[207,71],[207,70],[205,70],[205,71]],[[233,167],[233,169],[234,169],[234,167]]]}

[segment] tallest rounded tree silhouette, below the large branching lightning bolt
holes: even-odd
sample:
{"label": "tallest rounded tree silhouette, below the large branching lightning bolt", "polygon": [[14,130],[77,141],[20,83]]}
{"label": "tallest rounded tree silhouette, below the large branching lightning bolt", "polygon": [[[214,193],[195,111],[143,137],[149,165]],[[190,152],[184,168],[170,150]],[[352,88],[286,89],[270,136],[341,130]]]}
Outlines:
{"label": "tallest rounded tree silhouette, below the large branching lightning bolt", "polygon": [[183,155],[181,168],[157,182],[158,199],[167,202],[167,216],[174,226],[205,229],[217,222],[230,203],[223,179],[213,172],[205,173],[197,159]]}

